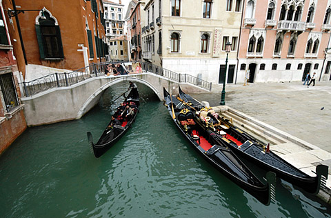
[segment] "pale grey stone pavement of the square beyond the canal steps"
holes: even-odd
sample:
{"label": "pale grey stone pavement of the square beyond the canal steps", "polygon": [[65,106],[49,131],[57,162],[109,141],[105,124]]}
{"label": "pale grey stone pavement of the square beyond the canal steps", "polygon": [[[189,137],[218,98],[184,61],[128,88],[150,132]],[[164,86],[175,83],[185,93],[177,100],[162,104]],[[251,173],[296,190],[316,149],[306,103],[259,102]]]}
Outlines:
{"label": "pale grey stone pavement of the square beyond the canal steps", "polygon": [[[331,152],[331,81],[317,81],[309,88],[302,84],[227,84],[225,105]],[[213,85],[212,93],[190,95],[219,106],[222,88]]]}

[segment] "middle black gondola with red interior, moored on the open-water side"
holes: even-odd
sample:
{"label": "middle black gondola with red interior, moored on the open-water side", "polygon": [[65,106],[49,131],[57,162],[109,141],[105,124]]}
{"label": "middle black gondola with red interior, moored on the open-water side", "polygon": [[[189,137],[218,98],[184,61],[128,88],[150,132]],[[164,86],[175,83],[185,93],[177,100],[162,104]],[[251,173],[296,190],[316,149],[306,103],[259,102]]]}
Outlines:
{"label": "middle black gondola with red interior, moored on the open-water side", "polygon": [[218,143],[217,135],[194,123],[193,113],[185,113],[183,111],[185,106],[176,97],[172,97],[165,88],[163,88],[163,95],[165,106],[168,108],[174,123],[190,141],[194,150],[262,204],[269,205],[270,199],[274,199],[275,194],[275,174],[268,172],[266,175],[267,183],[263,184],[230,149]]}

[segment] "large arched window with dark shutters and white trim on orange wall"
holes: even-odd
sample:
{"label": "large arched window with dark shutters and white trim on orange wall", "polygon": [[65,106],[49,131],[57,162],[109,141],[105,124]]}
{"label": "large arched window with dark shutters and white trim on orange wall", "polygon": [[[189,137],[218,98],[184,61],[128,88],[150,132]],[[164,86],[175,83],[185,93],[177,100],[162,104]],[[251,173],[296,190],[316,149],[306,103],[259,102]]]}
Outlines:
{"label": "large arched window with dark shutters and white trim on orange wall", "polygon": [[43,10],[43,13],[46,19],[39,18],[39,24],[36,24],[40,57],[41,59],[62,59],[64,56],[60,27],[57,24],[57,20],[52,17],[52,14],[46,10]]}

